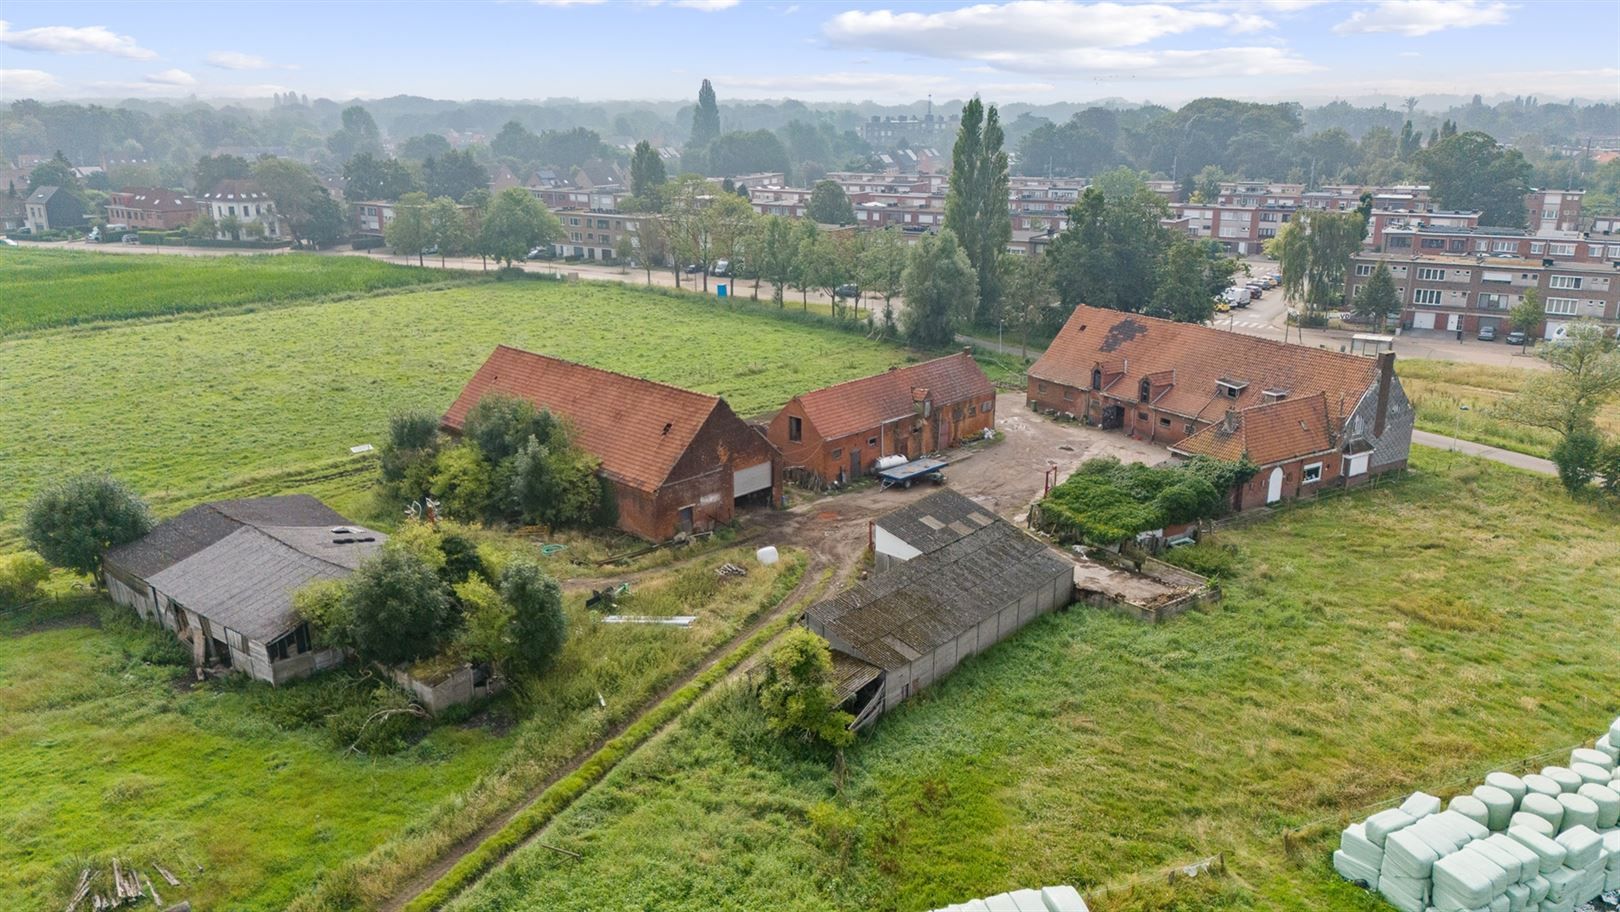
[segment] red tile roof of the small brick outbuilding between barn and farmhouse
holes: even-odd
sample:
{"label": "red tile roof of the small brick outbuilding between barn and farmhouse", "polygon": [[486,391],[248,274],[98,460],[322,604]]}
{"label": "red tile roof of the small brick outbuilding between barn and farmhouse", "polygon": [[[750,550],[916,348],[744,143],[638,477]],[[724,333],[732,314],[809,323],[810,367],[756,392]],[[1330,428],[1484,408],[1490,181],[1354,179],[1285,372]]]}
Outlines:
{"label": "red tile roof of the small brick outbuilding between barn and farmhouse", "polygon": [[922,397],[933,398],[935,407],[974,398],[993,398],[990,386],[978,364],[966,352],[894,368],[859,381],[821,387],[799,395],[805,418],[823,439],[844,437],[870,431],[912,415],[912,407]]}

